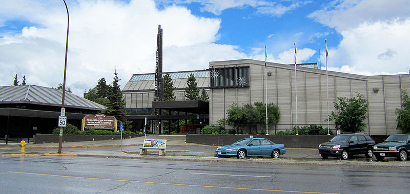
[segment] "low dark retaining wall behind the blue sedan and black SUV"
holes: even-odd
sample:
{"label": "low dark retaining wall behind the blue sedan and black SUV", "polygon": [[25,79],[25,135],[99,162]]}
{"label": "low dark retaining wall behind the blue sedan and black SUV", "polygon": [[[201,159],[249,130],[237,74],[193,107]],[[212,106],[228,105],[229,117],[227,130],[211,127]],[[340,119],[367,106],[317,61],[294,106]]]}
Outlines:
{"label": "low dark retaining wall behind the blue sedan and black SUV", "polygon": [[[285,147],[317,148],[319,144],[329,141],[334,135],[295,136],[295,135],[253,135],[254,138],[265,138],[275,143],[284,144]],[[249,135],[187,135],[187,143],[203,145],[229,145]],[[372,136],[376,143],[380,143],[387,136]]]}

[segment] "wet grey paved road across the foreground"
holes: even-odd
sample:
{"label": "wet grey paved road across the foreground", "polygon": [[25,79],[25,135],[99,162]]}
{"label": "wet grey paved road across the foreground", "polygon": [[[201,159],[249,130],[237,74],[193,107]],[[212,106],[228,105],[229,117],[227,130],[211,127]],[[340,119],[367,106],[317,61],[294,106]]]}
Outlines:
{"label": "wet grey paved road across the foreground", "polygon": [[[2,193],[408,193],[400,168],[2,157]],[[394,179],[394,180],[393,180]]]}

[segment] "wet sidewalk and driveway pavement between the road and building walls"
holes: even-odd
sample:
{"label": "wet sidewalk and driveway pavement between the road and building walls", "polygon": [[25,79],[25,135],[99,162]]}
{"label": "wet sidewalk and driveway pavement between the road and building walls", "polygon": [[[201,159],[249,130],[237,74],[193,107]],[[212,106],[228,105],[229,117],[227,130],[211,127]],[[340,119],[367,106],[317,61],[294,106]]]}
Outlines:
{"label": "wet sidewalk and driveway pavement between the road and building walls", "polygon": [[149,135],[147,139],[167,139],[166,156],[158,156],[158,151],[149,151],[148,155],[139,155],[139,147],[144,136],[122,140],[63,142],[62,154],[58,152],[57,143],[26,144],[25,154],[20,154],[19,143],[5,145],[0,143],[0,157],[15,156],[77,156],[77,157],[109,157],[145,160],[176,160],[218,163],[252,163],[275,165],[314,165],[314,166],[355,166],[355,167],[399,167],[410,168],[410,162],[377,162],[364,156],[354,156],[353,160],[342,161],[337,158],[322,160],[314,148],[286,148],[280,159],[264,157],[247,157],[246,159],[217,158],[215,149],[218,146],[186,143],[185,135]]}

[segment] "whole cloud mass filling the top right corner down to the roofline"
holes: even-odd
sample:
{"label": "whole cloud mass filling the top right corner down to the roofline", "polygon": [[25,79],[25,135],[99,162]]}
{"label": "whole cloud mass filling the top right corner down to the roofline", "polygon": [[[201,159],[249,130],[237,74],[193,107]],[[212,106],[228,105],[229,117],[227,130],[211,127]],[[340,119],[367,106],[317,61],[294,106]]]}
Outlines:
{"label": "whole cloud mass filling the top right corner down to the roofline", "polygon": [[327,39],[339,42],[337,47],[329,48],[329,67],[361,75],[396,74],[410,69],[408,1],[334,1],[309,17],[342,35],[340,42]]}

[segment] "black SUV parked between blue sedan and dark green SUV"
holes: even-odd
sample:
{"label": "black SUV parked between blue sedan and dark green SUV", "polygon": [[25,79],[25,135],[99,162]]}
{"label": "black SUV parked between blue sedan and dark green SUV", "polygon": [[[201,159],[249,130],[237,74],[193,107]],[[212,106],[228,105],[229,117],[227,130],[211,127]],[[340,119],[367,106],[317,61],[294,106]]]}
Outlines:
{"label": "black SUV parked between blue sedan and dark green SUV", "polygon": [[373,157],[375,141],[363,133],[343,133],[335,136],[329,142],[319,145],[319,154],[323,159],[329,156],[340,157],[342,160],[354,154],[365,154],[367,158]]}

